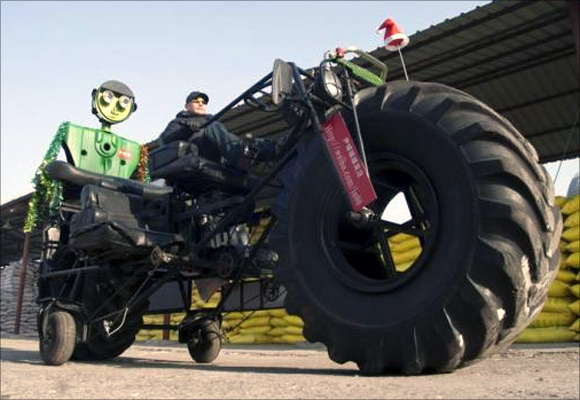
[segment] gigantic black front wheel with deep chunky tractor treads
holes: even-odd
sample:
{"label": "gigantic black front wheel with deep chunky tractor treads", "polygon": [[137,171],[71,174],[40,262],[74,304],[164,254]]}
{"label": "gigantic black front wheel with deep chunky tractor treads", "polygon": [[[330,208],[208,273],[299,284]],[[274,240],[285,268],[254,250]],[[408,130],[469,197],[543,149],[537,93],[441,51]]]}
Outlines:
{"label": "gigantic black front wheel with deep chunky tractor treads", "polygon": [[[559,262],[561,216],[533,147],[440,84],[392,82],[356,104],[378,198],[353,218],[322,139],[299,147],[270,235],[288,312],[332,360],[370,375],[448,372],[506,347],[540,312]],[[384,217],[398,194],[405,223]],[[421,249],[404,269],[388,240],[398,231]]]}

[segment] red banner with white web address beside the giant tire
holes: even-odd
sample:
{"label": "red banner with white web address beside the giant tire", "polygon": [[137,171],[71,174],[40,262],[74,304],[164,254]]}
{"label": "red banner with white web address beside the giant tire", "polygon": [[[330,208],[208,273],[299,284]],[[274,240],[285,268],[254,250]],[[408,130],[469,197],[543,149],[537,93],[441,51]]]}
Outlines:
{"label": "red banner with white web address beside the giant tire", "polygon": [[322,123],[322,135],[353,211],[377,198],[358,149],[340,113]]}

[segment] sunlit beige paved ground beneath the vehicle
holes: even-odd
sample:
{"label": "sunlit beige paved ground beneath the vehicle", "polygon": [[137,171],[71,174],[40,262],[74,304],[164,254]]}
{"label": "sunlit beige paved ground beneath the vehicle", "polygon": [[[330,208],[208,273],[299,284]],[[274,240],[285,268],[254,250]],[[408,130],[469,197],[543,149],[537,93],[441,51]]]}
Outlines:
{"label": "sunlit beige paved ground beneath the vehicle", "polygon": [[578,399],[578,344],[516,345],[450,374],[362,377],[321,346],[227,346],[195,364],[184,345],[133,345],[108,362],[46,366],[35,338],[1,338],[2,399]]}

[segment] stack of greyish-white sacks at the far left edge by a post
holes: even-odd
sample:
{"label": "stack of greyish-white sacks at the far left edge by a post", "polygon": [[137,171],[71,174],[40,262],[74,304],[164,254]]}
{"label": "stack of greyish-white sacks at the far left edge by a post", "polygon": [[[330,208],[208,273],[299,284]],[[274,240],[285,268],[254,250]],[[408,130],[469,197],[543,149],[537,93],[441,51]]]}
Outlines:
{"label": "stack of greyish-white sacks at the far left edge by a post", "polygon": [[[36,304],[36,297],[38,296],[39,265],[39,262],[29,261],[26,269],[20,311],[19,333],[21,334],[36,334],[37,332],[36,315],[38,313],[38,305]],[[0,331],[14,333],[22,260],[8,264],[0,271]]]}

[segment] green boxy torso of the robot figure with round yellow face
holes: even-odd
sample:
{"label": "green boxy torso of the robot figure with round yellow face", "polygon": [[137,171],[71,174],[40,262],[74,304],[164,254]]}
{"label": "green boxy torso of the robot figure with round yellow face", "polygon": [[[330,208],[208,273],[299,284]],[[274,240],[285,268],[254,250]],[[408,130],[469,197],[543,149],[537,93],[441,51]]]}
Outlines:
{"label": "green boxy torso of the robot figure with round yellow face", "polygon": [[75,167],[103,175],[130,178],[139,166],[141,145],[113,132],[63,124],[63,147]]}

